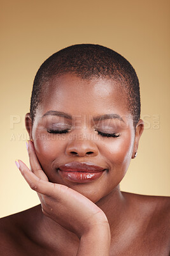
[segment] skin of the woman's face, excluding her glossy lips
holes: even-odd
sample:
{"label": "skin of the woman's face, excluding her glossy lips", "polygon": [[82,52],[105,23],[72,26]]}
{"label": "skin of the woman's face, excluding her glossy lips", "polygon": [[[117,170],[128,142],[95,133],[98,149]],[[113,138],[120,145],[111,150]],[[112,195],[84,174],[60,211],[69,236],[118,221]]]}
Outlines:
{"label": "skin of the woman's face, excluding her glossy lips", "polygon": [[[138,129],[135,134],[125,99],[125,92],[109,79],[87,81],[65,74],[55,77],[46,86],[29,133],[50,182],[73,188],[92,202],[117,189],[138,148],[141,135]],[[72,119],[48,111],[60,111]],[[112,116],[96,118],[108,114]],[[49,132],[53,130],[68,132]],[[98,131],[115,133],[116,137],[103,137]],[[107,170],[99,179],[90,182],[64,179],[58,168],[73,161],[90,161]]]}

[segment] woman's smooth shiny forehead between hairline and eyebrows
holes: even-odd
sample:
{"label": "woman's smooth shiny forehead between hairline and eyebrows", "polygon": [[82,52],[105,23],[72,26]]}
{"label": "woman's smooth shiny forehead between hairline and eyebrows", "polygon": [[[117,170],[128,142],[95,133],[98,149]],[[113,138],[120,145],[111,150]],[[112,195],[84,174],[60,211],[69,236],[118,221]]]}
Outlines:
{"label": "woman's smooth shiny forehead between hairline and eyebrows", "polygon": [[113,113],[122,115],[127,111],[125,91],[112,79],[92,78],[89,80],[73,74],[54,77],[43,88],[41,112],[49,110],[84,113]]}

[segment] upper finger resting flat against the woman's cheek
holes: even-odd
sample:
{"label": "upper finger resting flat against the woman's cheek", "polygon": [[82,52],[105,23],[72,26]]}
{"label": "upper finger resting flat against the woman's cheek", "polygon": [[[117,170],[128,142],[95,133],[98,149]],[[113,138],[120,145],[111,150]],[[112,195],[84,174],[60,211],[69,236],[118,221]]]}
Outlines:
{"label": "upper finger resting flat against the woman's cheek", "polygon": [[36,156],[34,143],[29,140],[27,143],[27,151],[29,154],[29,163],[31,165],[32,172],[39,178],[43,180],[48,180],[48,177],[46,177],[45,172],[43,172],[41,165],[39,164],[38,157]]}

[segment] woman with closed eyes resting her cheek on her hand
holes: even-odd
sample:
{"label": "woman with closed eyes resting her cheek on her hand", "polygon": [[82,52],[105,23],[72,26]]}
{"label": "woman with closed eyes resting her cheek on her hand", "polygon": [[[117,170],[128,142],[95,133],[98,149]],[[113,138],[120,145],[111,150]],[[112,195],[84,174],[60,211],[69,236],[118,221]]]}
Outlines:
{"label": "woman with closed eyes resting her cheek on her hand", "polygon": [[120,191],[143,132],[139,82],[120,54],[72,45],[39,68],[25,115],[40,205],[1,219],[1,255],[169,255],[166,196]]}

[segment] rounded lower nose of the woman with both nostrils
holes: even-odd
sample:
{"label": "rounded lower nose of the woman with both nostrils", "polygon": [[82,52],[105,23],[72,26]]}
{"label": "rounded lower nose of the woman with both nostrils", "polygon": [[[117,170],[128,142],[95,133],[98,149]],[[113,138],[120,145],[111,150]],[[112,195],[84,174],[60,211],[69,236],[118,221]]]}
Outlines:
{"label": "rounded lower nose of the woman with both nostrils", "polygon": [[97,156],[98,148],[92,141],[71,141],[66,148],[66,154],[69,156]]}

